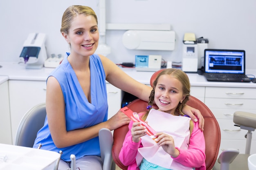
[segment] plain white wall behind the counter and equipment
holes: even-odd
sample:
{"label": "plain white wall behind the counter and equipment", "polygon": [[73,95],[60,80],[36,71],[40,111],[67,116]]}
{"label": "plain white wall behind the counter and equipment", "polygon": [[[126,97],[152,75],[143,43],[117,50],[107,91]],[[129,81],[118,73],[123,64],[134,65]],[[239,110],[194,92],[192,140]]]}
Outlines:
{"label": "plain white wall behind the counter and equipment", "polygon": [[[98,14],[99,0],[6,0],[0,1],[0,62],[18,61],[22,44],[31,32],[47,34],[50,54],[63,54],[68,46],[59,29],[65,9],[72,4],[92,7]],[[134,62],[136,54],[160,54],[165,60],[181,61],[184,33],[209,39],[209,48],[244,49],[248,69],[256,63],[255,0],[106,0],[107,23],[170,23],[176,32],[174,51],[136,51],[122,43],[125,31],[107,30],[106,43],[115,63]]]}

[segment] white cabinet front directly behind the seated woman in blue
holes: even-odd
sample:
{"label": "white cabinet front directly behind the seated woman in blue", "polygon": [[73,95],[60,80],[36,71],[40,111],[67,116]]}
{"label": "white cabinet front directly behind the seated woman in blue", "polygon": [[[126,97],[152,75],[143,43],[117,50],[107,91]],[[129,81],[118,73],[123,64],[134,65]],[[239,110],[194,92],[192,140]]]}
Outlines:
{"label": "white cabinet front directly behind the seated woman in blue", "polygon": [[[106,87],[109,107],[108,118],[110,118],[120,109],[121,90],[109,83],[106,84]],[[46,82],[9,80],[9,91],[11,108],[11,133],[9,134],[12,134],[12,143],[14,144],[18,125],[23,115],[33,106],[45,102]]]}

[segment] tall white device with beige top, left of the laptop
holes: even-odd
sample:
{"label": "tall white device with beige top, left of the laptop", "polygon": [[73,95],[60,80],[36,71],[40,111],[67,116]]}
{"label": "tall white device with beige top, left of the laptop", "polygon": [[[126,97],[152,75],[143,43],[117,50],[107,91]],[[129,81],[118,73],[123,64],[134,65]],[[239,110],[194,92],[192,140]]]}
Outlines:
{"label": "tall white device with beige top, left of the laptop", "polygon": [[198,44],[195,34],[185,33],[183,40],[182,71],[197,73],[198,71]]}

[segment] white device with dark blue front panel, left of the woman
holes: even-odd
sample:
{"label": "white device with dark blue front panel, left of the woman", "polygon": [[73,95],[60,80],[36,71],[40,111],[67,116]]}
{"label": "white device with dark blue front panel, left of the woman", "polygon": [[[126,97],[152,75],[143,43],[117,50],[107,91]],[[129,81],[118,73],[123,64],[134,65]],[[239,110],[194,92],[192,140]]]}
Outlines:
{"label": "white device with dark blue front panel, left of the woman", "polygon": [[26,68],[40,69],[47,59],[45,48],[45,33],[30,33],[23,44],[20,61],[26,64]]}

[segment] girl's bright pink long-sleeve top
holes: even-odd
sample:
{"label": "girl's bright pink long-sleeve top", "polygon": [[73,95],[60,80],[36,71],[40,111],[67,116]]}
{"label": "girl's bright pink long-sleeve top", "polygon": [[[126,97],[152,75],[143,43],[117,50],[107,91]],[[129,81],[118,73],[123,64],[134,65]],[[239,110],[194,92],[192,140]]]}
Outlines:
{"label": "girl's bright pink long-sleeve top", "polygon": [[[139,170],[135,158],[138,148],[143,146],[141,141],[138,143],[132,141],[132,134],[130,131],[132,124],[133,121],[130,121],[129,131],[126,134],[123,147],[119,153],[119,159],[125,166],[128,166],[128,170]],[[184,166],[195,168],[195,170],[206,170],[204,134],[198,128],[198,122],[194,122],[194,128],[189,139],[189,149],[177,149],[180,151],[180,155],[176,158],[172,157],[173,160]]]}

